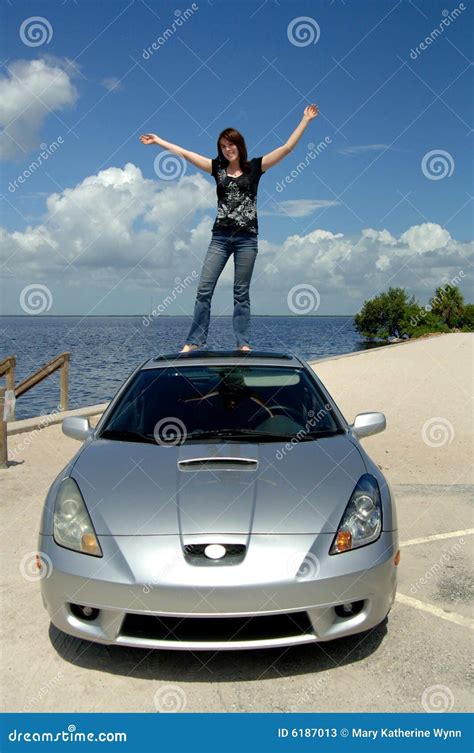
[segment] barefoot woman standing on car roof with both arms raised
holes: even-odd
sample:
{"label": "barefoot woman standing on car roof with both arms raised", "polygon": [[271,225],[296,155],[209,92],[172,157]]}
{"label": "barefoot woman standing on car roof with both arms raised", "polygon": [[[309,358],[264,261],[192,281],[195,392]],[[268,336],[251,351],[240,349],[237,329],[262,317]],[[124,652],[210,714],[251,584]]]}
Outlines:
{"label": "barefoot woman standing on car roof with both arms raised", "polygon": [[140,136],[142,144],[158,144],[179,154],[188,162],[210,173],[216,181],[217,217],[212,238],[199,279],[196,303],[187,342],[181,353],[205,345],[209,330],[211,299],[217,280],[227,259],[234,254],[234,315],[233,327],[238,350],[251,350],[249,287],[258,252],[257,189],[260,177],[289,154],[308,123],[319,113],[316,105],[308,105],[303,117],[283,146],[263,157],[247,160],[245,140],[235,128],[226,128],[217,139],[217,157],[210,159],[190,152],[176,144],[147,133]]}

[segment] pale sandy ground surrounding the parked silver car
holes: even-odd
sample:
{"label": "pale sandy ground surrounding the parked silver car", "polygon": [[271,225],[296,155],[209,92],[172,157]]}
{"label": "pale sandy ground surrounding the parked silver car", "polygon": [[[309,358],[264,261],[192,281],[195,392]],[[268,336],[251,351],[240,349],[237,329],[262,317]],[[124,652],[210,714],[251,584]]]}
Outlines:
{"label": "pale sandy ground surrounding the parked silver car", "polygon": [[[453,694],[452,711],[468,710],[473,345],[472,334],[443,334],[312,363],[349,422],[372,410],[387,418],[385,432],[362,442],[397,498],[400,598],[388,626],[365,641],[214,656],[205,669],[202,657],[111,650],[49,628],[24,563],[34,556],[46,491],[79,444],[59,423],[22,433],[13,433],[22,422],[10,425],[13,461],[0,470],[2,709],[153,711],[166,683],[185,689],[187,711],[416,712],[424,690],[439,684]],[[450,567],[414,590],[455,542]]]}

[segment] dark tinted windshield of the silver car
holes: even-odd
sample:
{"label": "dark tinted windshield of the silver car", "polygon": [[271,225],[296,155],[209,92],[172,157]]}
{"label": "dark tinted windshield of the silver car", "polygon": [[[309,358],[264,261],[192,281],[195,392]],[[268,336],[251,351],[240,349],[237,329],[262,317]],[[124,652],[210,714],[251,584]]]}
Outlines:
{"label": "dark tinted windshield of the silver car", "polygon": [[192,366],[144,369],[100,436],[178,444],[194,439],[315,439],[344,431],[302,368]]}

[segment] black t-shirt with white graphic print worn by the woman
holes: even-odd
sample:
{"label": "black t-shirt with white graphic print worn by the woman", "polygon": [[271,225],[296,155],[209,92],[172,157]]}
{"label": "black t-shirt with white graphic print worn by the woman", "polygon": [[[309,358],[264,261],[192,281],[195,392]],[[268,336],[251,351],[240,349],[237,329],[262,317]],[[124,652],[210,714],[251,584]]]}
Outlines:
{"label": "black t-shirt with white graphic print worn by the woman", "polygon": [[212,160],[216,181],[217,217],[212,230],[258,235],[257,189],[262,172],[262,157],[254,157],[250,171],[231,178],[217,159]]}

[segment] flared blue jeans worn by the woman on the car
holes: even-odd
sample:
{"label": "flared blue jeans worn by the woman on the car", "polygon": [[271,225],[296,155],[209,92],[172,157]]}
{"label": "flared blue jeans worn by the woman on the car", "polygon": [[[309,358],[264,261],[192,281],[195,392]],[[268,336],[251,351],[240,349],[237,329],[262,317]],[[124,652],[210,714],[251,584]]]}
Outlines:
{"label": "flared blue jeans worn by the woman on the car", "polygon": [[257,237],[215,231],[212,233],[199,278],[193,322],[186,338],[189,345],[201,347],[206,344],[212,295],[219,275],[232,253],[234,254],[234,316],[232,320],[234,334],[238,348],[250,344],[249,287],[258,253]]}

